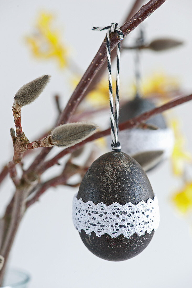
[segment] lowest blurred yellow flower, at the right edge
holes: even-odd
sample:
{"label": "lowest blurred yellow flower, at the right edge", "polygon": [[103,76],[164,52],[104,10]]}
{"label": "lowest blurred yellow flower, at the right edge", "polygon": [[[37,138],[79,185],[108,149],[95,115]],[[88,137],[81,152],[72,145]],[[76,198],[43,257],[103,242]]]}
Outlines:
{"label": "lowest blurred yellow flower, at the right edge", "polygon": [[172,201],[180,212],[189,212],[192,209],[192,182],[185,183],[184,187],[173,195]]}

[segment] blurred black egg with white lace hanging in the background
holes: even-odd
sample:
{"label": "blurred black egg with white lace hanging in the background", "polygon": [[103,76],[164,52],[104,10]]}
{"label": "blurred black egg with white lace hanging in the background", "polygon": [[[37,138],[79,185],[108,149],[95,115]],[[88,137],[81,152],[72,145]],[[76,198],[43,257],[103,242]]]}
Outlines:
{"label": "blurred black egg with white lace hanging in the background", "polygon": [[[154,108],[155,105],[151,101],[136,96],[134,100],[127,102],[120,109],[119,122],[123,123]],[[124,152],[134,157],[134,155],[141,152],[162,151],[162,158],[160,159],[168,158],[174,145],[172,129],[167,128],[165,119],[161,114],[155,115],[146,123],[157,126],[158,129],[132,128],[119,132],[118,137]]]}

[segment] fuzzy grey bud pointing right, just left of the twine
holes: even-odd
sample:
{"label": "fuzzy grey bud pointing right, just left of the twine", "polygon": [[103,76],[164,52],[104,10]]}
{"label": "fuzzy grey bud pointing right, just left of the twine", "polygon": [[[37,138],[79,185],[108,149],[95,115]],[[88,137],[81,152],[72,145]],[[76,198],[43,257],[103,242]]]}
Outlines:
{"label": "fuzzy grey bud pointing right, just left of the twine", "polygon": [[67,123],[51,132],[51,143],[58,147],[70,147],[94,134],[97,126],[92,123]]}

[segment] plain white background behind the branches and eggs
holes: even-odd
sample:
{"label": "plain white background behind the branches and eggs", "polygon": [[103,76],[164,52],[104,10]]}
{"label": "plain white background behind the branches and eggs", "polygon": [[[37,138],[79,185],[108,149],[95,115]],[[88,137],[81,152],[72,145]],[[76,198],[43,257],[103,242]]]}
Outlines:
{"label": "plain white background behind the branches and eggs", "polygon": [[[64,105],[72,90],[69,77],[53,61],[37,61],[31,56],[24,36],[33,31],[38,12],[45,10],[57,16],[63,29],[63,40],[71,56],[85,70],[97,52],[104,32],[92,31],[92,26],[121,23],[133,1],[125,0],[1,0],[0,1],[0,122],[1,163],[11,159],[9,134],[14,125],[12,103],[15,92],[23,84],[43,74],[51,74],[51,82],[35,103],[22,109],[23,130],[31,140],[43,129],[51,127],[56,111],[55,92],[61,94]],[[146,52],[142,59],[143,74],[164,70],[180,80],[182,89],[190,92],[191,84],[191,10],[189,0],[166,1],[146,21],[147,36],[175,37],[185,41],[182,48],[165,53]],[[129,40],[135,37],[131,33]],[[122,56],[121,75],[129,82],[133,78],[131,54]],[[174,109],[179,115],[183,133],[191,149],[191,108],[186,103]],[[192,152],[192,150],[191,150]],[[28,160],[29,161],[29,160]],[[25,162],[25,167],[29,162]],[[49,177],[55,170],[48,172]],[[16,236],[10,266],[29,271],[30,288],[46,287],[191,287],[192,241],[187,220],[179,217],[170,196],[181,183],[165,162],[148,174],[159,198],[161,222],[148,247],[137,257],[125,262],[107,262],[92,255],[74,229],[71,204],[77,189],[50,189],[27,211]],[[12,182],[3,182],[0,192],[0,212],[13,192]]]}

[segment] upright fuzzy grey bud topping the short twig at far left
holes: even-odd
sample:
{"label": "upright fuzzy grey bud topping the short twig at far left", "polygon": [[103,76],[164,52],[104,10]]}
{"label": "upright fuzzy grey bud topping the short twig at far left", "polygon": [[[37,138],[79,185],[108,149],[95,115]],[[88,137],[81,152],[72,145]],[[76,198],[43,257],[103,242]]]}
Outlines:
{"label": "upright fuzzy grey bud topping the short twig at far left", "polygon": [[43,75],[23,85],[15,95],[15,104],[22,107],[33,102],[44,90],[49,78],[49,75]]}

